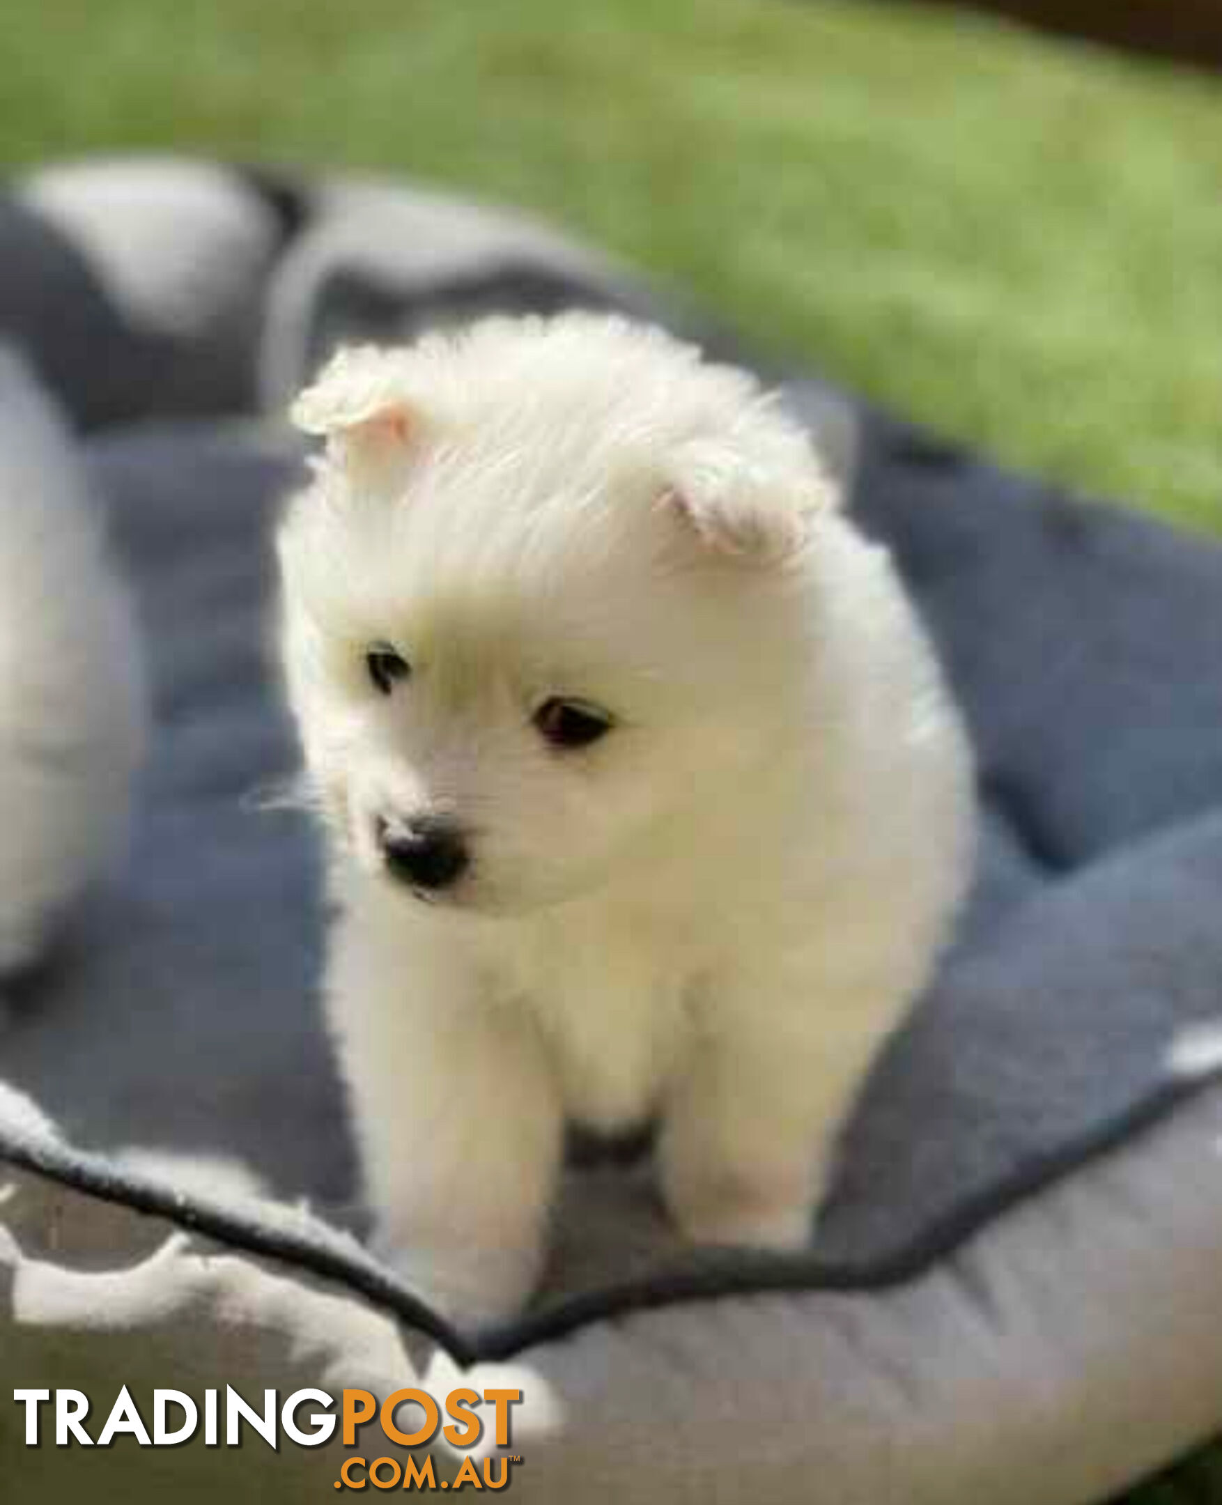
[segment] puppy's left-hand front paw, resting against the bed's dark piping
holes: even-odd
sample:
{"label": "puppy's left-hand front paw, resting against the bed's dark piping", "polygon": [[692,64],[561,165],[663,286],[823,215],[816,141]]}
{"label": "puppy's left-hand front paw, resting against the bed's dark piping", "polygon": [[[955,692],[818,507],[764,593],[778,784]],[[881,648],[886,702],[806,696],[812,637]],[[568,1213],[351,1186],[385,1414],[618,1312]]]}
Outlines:
{"label": "puppy's left-hand front paw, resting against the bed's dark piping", "polygon": [[412,1296],[461,1332],[510,1321],[534,1285],[537,1260],[521,1251],[400,1245],[376,1252]]}

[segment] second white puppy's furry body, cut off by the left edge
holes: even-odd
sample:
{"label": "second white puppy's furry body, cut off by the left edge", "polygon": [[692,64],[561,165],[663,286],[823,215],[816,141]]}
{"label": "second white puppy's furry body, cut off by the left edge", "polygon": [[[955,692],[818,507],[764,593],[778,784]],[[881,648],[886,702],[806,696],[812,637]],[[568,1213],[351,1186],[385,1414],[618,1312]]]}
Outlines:
{"label": "second white puppy's furry body, cut off by the left edge", "polygon": [[113,847],[144,730],[131,607],[71,439],[0,352],[0,977]]}

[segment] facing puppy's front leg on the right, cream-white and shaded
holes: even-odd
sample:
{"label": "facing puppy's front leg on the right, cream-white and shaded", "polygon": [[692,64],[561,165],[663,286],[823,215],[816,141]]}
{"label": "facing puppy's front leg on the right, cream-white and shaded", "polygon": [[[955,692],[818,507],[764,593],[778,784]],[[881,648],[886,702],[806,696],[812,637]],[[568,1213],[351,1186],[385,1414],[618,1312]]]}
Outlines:
{"label": "facing puppy's front leg on the right, cream-white and shaded", "polygon": [[745,998],[718,1010],[667,1103],[662,1193],[697,1243],[804,1248],[835,1138],[898,1007],[876,993]]}

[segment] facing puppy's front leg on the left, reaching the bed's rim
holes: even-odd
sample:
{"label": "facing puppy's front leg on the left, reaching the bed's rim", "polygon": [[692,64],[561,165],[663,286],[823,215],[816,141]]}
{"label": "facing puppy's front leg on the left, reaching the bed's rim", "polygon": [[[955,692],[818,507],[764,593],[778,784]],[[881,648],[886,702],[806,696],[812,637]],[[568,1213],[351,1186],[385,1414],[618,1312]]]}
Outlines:
{"label": "facing puppy's front leg on the left, reaching the bed's rim", "polygon": [[[539,1275],[560,1102],[527,1020],[426,966],[331,975],[375,1249],[459,1327],[510,1317]],[[354,990],[355,989],[355,990]]]}

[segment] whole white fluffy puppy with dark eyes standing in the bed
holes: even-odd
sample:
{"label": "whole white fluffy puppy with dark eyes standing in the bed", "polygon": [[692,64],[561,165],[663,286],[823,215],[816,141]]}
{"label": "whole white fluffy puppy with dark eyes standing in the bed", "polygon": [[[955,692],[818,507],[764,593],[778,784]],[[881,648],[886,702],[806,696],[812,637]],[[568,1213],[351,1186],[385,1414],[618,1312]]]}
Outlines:
{"label": "whole white fluffy puppy with dark eyes standing in the bed", "polygon": [[617,318],[351,349],[295,420],[283,653],[382,1254],[503,1317],[564,1121],[650,1115],[691,1239],[802,1245],[969,868],[886,554],[749,376]]}

